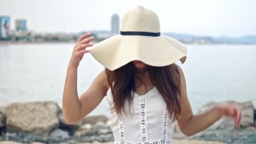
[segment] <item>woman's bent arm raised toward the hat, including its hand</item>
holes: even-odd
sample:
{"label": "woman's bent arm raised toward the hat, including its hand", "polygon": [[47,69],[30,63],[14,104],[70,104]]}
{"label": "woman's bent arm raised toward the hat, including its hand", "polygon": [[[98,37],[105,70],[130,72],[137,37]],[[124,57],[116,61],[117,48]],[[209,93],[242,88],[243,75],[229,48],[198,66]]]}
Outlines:
{"label": "woman's bent arm raised toward the hat, including its hand", "polygon": [[77,124],[80,120],[95,109],[104,98],[107,89],[107,75],[100,72],[93,83],[80,97],[77,94],[77,67],[85,53],[86,47],[92,46],[89,42],[93,37],[85,38],[90,34],[82,35],[75,45],[67,68],[67,76],[64,85],[62,99],[62,114],[67,124]]}

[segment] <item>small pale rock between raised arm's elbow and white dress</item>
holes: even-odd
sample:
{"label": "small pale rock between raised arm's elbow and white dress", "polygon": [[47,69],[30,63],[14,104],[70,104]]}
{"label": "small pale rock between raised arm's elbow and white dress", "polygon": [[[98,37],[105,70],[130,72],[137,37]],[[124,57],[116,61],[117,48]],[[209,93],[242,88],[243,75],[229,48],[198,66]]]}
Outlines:
{"label": "small pale rock between raised arm's elbow and white dress", "polygon": [[91,125],[95,125],[97,122],[106,123],[107,120],[109,120],[109,118],[105,115],[86,116],[85,118],[83,118],[82,124],[89,123]]}

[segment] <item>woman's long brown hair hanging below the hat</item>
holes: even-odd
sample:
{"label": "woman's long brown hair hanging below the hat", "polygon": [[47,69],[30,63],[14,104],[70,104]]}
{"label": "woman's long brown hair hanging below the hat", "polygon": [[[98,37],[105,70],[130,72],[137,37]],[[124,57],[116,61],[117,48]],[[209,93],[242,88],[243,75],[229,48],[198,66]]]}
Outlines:
{"label": "woman's long brown hair hanging below the hat", "polygon": [[[135,80],[138,79],[144,83],[137,75],[136,68],[132,62],[125,64],[123,67],[110,71],[105,68],[107,81],[112,91],[113,107],[112,112],[120,113],[121,110],[126,115],[124,105],[128,102],[128,108],[131,110],[133,95],[135,91]],[[164,67],[149,66],[149,78],[152,84],[161,94],[168,108],[170,115],[173,115],[173,121],[181,113],[180,104],[180,74],[176,64]]]}

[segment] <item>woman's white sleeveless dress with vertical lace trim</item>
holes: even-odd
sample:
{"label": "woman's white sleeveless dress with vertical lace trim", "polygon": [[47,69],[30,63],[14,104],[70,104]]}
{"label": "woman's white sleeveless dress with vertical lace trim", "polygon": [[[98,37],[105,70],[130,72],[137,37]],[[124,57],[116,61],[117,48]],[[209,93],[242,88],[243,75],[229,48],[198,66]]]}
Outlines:
{"label": "woman's white sleeveless dress with vertical lace trim", "polygon": [[[120,115],[112,112],[110,128],[114,134],[114,144],[171,144],[174,123],[171,123],[172,117],[157,88],[144,95],[135,91],[131,93],[134,94],[131,113],[126,111],[126,116],[123,112]],[[106,96],[112,107],[110,88]]]}

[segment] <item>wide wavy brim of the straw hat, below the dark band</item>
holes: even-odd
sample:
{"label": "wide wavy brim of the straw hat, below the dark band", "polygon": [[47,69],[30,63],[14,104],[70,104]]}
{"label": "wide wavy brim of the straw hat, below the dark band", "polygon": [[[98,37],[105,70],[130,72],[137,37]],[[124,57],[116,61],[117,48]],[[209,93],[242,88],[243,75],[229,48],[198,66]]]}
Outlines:
{"label": "wide wavy brim of the straw hat, below the dark band", "polygon": [[91,55],[104,67],[115,70],[131,61],[163,67],[187,59],[187,46],[161,34],[157,37],[141,35],[115,35],[93,45]]}

